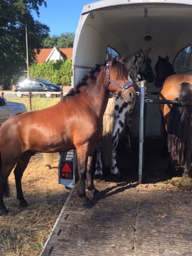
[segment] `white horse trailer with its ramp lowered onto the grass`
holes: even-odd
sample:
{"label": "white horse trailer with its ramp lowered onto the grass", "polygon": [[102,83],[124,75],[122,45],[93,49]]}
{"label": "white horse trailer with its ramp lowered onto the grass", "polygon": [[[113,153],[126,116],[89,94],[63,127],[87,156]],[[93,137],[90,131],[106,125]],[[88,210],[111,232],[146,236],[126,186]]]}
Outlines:
{"label": "white horse trailer with its ramp lowered onto the grass", "polygon": [[[72,87],[95,64],[150,47],[153,69],[158,56],[169,56],[176,73],[190,74],[191,34],[191,0],[101,0],[87,4],[82,9],[73,46]],[[142,91],[144,87],[145,81],[141,84]],[[141,104],[138,92],[132,137],[139,137],[141,132],[142,104],[146,112],[145,137],[161,137],[157,104],[144,104],[155,102],[159,91],[153,82],[147,84]],[[70,163],[76,162],[74,152]],[[67,154],[63,154],[60,171],[66,162]],[[74,171],[74,165],[70,170],[69,166],[66,172]],[[67,183],[72,187],[74,180]],[[113,184],[112,188],[102,181],[97,186],[101,199],[90,209],[82,207],[78,187],[73,186],[41,256],[192,255],[190,192],[150,191],[125,181]]]}

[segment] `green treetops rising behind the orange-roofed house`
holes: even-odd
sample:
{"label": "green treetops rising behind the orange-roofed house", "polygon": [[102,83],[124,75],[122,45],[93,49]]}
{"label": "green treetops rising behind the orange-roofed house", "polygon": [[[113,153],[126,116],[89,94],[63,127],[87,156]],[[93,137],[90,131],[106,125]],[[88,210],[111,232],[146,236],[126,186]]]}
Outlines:
{"label": "green treetops rising behind the orange-roofed house", "polygon": [[75,33],[62,33],[60,36],[48,36],[43,41],[43,48],[73,48]]}

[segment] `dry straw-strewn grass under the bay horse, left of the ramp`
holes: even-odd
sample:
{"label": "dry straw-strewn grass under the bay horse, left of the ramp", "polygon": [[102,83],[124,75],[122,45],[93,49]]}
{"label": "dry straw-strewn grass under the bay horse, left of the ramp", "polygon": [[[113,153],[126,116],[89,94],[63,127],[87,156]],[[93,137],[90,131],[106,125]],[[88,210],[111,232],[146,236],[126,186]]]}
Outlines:
{"label": "dry straw-strewn grass under the bay horse, left of the ramp", "polygon": [[59,154],[47,169],[43,155],[31,158],[23,175],[23,193],[29,206],[19,208],[13,172],[9,176],[10,197],[5,198],[9,214],[0,216],[0,256],[36,256],[63,207],[69,192],[58,184]]}

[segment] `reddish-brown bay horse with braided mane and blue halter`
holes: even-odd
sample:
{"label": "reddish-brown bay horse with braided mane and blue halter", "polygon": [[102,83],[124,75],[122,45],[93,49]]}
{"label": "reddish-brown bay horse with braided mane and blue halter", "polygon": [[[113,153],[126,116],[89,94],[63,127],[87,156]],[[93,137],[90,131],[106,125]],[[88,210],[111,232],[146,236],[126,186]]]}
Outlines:
{"label": "reddish-brown bay horse with braided mane and blue halter", "polygon": [[17,199],[26,207],[21,178],[35,152],[54,153],[77,150],[79,166],[79,197],[84,207],[92,203],[86,196],[87,187],[98,193],[91,174],[92,155],[96,142],[102,136],[103,114],[109,92],[125,102],[136,97],[128,69],[116,58],[96,65],[61,101],[39,111],[20,114],[8,119],[0,127],[0,214],[8,213],[3,203],[7,178],[15,167]]}

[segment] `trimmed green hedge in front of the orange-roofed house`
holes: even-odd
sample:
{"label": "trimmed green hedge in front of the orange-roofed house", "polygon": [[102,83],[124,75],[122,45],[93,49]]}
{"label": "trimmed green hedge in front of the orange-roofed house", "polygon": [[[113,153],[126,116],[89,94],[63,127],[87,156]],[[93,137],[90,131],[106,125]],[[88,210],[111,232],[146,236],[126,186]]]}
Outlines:
{"label": "trimmed green hedge in front of the orange-roofed house", "polygon": [[30,76],[43,78],[59,85],[71,85],[72,60],[32,64]]}

